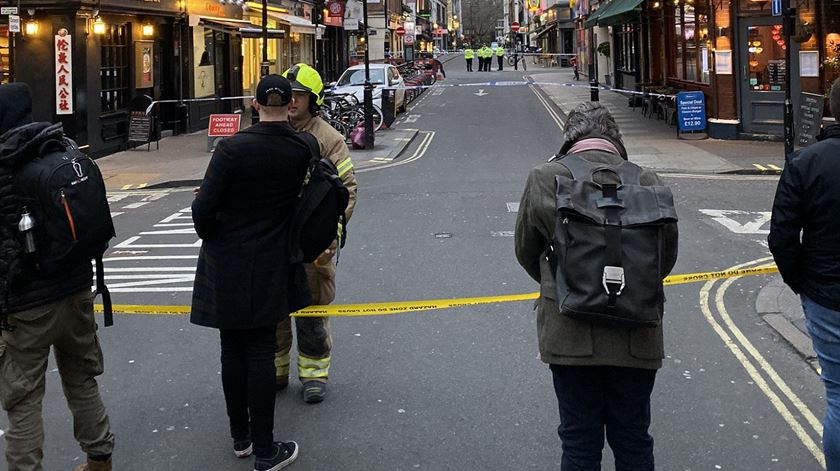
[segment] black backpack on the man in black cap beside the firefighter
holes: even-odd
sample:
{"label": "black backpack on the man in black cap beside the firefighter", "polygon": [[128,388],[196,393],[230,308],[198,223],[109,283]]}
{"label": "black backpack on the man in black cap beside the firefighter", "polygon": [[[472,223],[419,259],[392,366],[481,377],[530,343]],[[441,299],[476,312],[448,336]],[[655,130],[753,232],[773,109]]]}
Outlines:
{"label": "black backpack on the man in black cap beside the firefighter", "polygon": [[[310,152],[309,168],[292,213],[289,236],[291,263],[312,263],[339,239],[346,240],[344,211],[350,192],[341,182],[335,164],[321,156],[315,136],[298,134]],[[339,228],[341,233],[339,234]]]}

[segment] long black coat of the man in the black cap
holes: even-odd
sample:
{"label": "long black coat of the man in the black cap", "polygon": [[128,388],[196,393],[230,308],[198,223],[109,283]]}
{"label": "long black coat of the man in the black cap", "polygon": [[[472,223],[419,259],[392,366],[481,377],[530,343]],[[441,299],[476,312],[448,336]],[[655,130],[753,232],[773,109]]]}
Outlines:
{"label": "long black coat of the man in the black cap", "polygon": [[221,141],[192,204],[203,240],[193,324],[275,325],[308,304],[302,265],[288,263],[287,230],[309,150],[288,123],[260,122]]}

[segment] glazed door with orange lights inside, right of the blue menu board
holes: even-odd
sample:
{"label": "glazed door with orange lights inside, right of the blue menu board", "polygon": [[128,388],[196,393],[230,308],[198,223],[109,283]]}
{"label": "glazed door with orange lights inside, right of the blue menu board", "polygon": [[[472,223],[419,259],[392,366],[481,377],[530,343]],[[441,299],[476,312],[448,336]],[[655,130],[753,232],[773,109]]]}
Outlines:
{"label": "glazed door with orange lights inside, right of the blue menu board", "polygon": [[[791,47],[791,69],[799,71],[798,44],[786,44],[781,18],[741,18],[738,63],[741,127],[747,134],[784,133],[785,48]],[[799,74],[791,76],[794,109]]]}

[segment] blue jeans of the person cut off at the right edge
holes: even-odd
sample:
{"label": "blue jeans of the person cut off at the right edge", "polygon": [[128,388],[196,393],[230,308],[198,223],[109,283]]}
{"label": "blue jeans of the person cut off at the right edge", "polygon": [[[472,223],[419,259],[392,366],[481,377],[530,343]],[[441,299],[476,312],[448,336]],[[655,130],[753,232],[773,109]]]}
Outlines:
{"label": "blue jeans of the person cut off at the right edge", "polygon": [[840,311],[823,307],[804,294],[802,309],[825,383],[825,464],[828,471],[840,471]]}

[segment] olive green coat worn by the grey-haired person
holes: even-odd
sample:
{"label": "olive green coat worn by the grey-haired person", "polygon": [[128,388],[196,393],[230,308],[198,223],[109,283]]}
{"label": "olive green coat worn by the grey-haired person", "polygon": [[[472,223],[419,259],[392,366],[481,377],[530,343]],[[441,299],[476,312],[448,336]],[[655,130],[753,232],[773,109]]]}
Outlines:
{"label": "olive green coat worn by the grey-haired person", "polygon": [[[619,164],[622,161],[618,155],[600,151],[579,155],[590,162]],[[571,177],[571,172],[559,161],[544,163],[531,171],[516,220],[516,258],[531,278],[540,283],[540,297],[536,302],[540,357],[546,363],[560,365],[660,368],[664,357],[661,324],[658,327],[608,326],[560,313],[554,275],[545,257],[545,249],[554,234],[556,175]],[[596,182],[618,183],[600,180],[601,175],[610,174],[596,173]],[[641,183],[662,184],[650,170],[642,172]],[[677,259],[676,223],[666,225],[664,242],[663,266],[667,274]]]}

